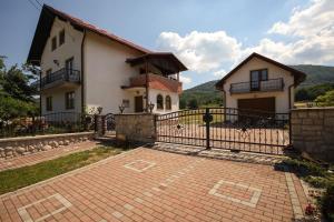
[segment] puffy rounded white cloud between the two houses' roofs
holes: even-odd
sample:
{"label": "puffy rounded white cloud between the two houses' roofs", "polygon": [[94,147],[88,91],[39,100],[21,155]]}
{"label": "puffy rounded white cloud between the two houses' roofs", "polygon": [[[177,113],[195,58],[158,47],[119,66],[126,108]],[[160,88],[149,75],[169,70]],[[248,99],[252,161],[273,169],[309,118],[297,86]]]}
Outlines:
{"label": "puffy rounded white cloud between the two houses' roofs", "polygon": [[242,44],[225,31],[193,31],[185,37],[163,32],[158,38],[160,50],[173,51],[193,71],[207,72],[237,58]]}

